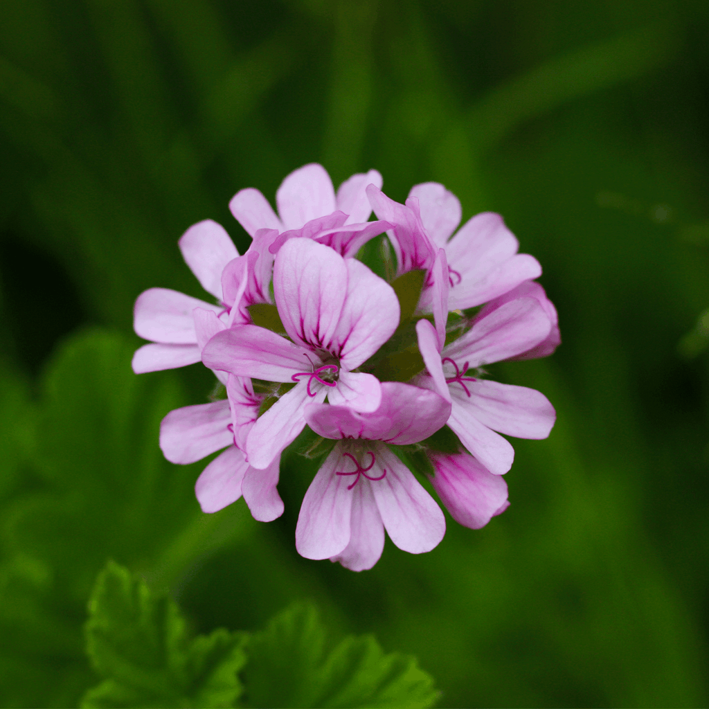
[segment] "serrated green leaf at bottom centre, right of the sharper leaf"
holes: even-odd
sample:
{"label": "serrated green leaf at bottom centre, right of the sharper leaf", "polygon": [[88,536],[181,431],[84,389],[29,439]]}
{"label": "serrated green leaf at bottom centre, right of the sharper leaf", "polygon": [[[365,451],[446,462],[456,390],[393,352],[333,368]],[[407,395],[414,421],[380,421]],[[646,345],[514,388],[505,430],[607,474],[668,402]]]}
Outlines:
{"label": "serrated green leaf at bottom centre, right of the sharper leaf", "polygon": [[247,652],[248,707],[428,707],[437,698],[413,657],[384,654],[374,637],[346,637],[326,654],[323,625],[308,604],[277,615]]}

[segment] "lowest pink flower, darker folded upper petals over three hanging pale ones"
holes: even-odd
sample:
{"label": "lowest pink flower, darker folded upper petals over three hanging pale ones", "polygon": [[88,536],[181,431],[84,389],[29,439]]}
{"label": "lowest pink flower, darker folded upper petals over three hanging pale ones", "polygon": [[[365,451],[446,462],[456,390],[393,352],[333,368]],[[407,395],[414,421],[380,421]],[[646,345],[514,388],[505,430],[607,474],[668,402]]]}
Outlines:
{"label": "lowest pink flower, darker folded upper petals over three hanging pale ones", "polygon": [[[371,569],[384,549],[384,529],[399,549],[429,552],[445,534],[431,496],[386,444],[408,445],[444,425],[450,403],[409,384],[381,384],[381,405],[360,413],[311,404],[308,425],[337,440],[303,498],[296,548],[308,559]],[[354,468],[354,469],[353,469]]]}

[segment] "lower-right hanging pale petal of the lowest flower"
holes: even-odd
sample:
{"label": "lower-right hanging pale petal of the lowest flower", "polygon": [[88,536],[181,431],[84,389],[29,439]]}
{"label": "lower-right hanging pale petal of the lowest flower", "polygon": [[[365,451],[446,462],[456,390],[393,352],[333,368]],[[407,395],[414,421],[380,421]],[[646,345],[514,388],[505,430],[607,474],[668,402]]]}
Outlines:
{"label": "lower-right hanging pale petal of the lowest flower", "polygon": [[413,473],[385,446],[376,448],[372,477],[386,469],[384,479],[372,481],[381,520],[391,541],[411,554],[430,552],[445,535],[445,517]]}

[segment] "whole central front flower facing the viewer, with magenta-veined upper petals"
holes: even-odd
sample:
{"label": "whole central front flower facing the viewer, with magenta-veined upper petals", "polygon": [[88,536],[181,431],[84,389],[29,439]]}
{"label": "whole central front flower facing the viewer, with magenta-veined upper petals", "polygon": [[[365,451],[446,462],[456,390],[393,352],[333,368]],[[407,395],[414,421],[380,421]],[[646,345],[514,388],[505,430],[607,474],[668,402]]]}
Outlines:
{"label": "whole central front flower facing the viewer, with magenta-veined upper petals", "polygon": [[290,340],[256,325],[217,333],[203,350],[212,369],[268,381],[296,382],[250,432],[247,454],[267,467],[303,427],[306,403],[374,411],[379,381],[353,372],[391,337],[399,320],[389,284],[356,259],[311,240],[286,242],[274,264],[274,295]]}

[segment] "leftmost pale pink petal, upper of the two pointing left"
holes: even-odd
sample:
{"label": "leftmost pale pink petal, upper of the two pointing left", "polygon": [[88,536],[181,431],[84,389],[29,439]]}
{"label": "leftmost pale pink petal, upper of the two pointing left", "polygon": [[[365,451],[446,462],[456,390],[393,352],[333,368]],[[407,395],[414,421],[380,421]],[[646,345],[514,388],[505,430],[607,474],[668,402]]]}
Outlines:
{"label": "leftmost pale pink petal, upper of the two pointing left", "polygon": [[135,333],[166,345],[194,345],[194,308],[220,313],[223,308],[167,288],[151,288],[138,296],[133,310]]}

